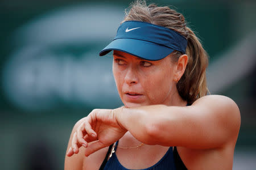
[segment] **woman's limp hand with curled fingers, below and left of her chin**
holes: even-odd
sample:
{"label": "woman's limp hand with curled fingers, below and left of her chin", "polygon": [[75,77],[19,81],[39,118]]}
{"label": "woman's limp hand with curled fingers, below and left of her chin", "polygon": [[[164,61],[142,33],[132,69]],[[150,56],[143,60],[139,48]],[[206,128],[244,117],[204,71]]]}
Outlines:
{"label": "woman's limp hand with curled fingers, below and left of her chin", "polygon": [[118,124],[116,118],[122,109],[94,109],[73,134],[72,146],[69,148],[67,156],[77,154],[81,146],[86,148],[85,156],[89,156],[118,141],[127,131]]}

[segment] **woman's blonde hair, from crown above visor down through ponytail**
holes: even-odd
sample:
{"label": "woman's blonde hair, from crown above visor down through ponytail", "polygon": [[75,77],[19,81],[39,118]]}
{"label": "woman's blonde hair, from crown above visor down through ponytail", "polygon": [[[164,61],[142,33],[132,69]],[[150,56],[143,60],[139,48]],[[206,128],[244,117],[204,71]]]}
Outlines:
{"label": "woman's blonde hair, from crown above visor down through ponytail", "polygon": [[[148,22],[179,32],[187,39],[188,63],[183,76],[176,84],[177,91],[190,104],[207,95],[205,70],[208,66],[208,54],[195,33],[187,27],[184,16],[168,6],[159,7],[155,4],[147,6],[145,1],[140,0],[131,3],[129,10],[125,12],[125,19],[121,23],[128,20]],[[181,54],[176,50],[172,52],[172,61],[177,62]]]}

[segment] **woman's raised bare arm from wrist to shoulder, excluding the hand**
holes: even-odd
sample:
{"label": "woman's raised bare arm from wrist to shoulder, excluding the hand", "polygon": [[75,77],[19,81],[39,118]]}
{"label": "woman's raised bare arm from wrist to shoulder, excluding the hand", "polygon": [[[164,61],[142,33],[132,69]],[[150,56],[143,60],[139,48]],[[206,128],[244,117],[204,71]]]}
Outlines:
{"label": "woman's raised bare arm from wrist to shoulder, excluding the hand", "polygon": [[147,145],[218,148],[236,141],[240,111],[232,99],[201,97],[188,107],[150,105],[115,112],[118,124]]}

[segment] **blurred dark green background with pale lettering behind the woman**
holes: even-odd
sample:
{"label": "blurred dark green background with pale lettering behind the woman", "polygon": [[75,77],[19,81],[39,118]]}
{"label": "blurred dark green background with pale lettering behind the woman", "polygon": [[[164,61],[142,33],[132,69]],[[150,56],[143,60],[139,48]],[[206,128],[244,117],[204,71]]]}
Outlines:
{"label": "blurred dark green background with pale lettering behind the woman", "polygon": [[[1,169],[63,169],[73,125],[122,105],[112,58],[98,52],[132,1],[0,2]],[[256,164],[256,2],[147,1],[184,14],[210,56],[212,94],[241,111],[233,169]]]}

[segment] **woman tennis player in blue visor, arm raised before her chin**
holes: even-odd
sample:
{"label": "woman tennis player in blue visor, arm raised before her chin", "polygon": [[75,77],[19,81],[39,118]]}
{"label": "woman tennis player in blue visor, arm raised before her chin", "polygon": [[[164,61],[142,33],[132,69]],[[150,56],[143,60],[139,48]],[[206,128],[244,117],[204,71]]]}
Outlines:
{"label": "woman tennis player in blue visor, arm raised before her chin", "polygon": [[110,51],[124,106],[76,123],[65,169],[232,169],[240,111],[207,95],[208,55],[183,15],[136,1]]}

